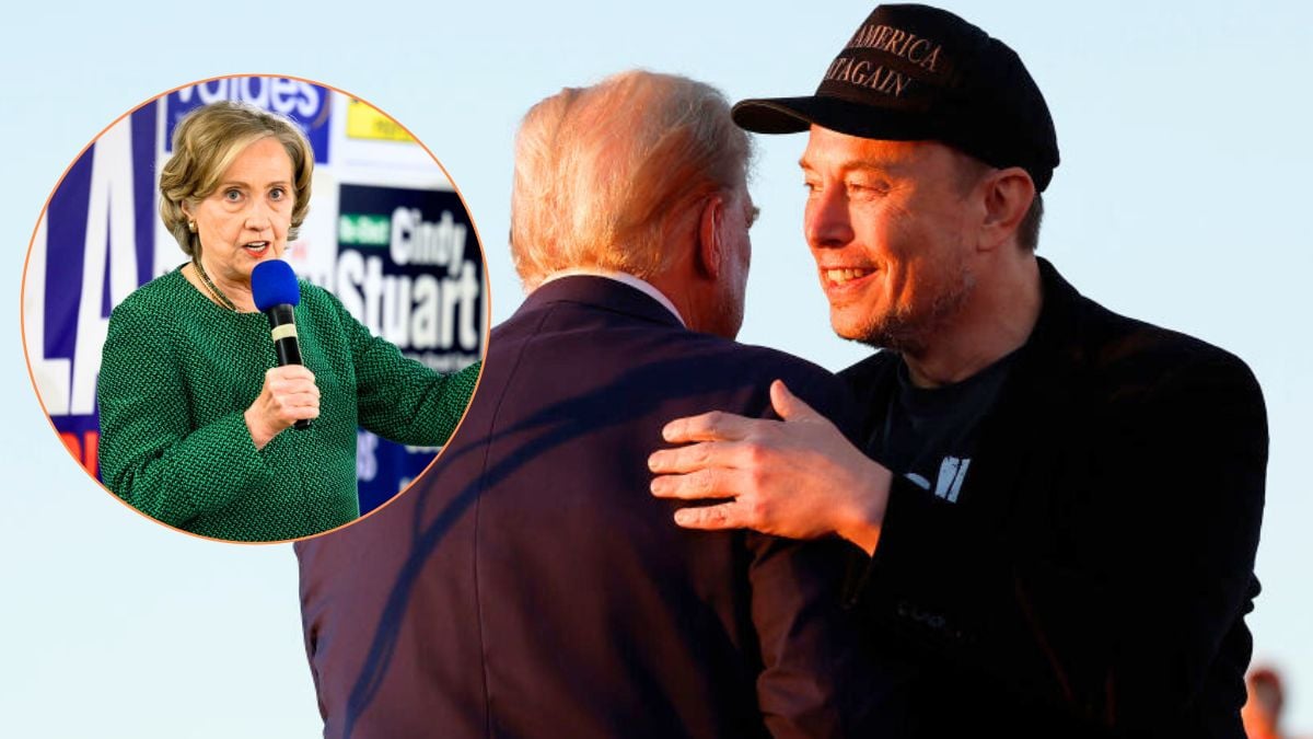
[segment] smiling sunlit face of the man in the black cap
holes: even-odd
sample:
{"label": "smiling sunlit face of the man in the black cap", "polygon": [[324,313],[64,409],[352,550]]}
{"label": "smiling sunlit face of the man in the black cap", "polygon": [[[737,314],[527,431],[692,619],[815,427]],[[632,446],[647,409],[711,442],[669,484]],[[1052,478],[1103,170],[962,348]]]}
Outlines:
{"label": "smiling sunlit face of the man in the black cap", "polygon": [[811,126],[805,233],[840,337],[919,352],[966,302],[976,162],[937,142]]}

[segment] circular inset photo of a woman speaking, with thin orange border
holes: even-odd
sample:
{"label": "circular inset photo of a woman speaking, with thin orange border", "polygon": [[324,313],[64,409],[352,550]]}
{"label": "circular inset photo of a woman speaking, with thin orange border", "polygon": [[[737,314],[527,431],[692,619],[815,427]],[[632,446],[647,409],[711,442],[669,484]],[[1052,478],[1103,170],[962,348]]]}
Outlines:
{"label": "circular inset photo of a woman speaking, with thin orange border", "polygon": [[281,542],[404,489],[487,342],[483,252],[428,149],[319,83],[226,76],[108,126],[41,213],[24,347],[88,475],[175,529]]}

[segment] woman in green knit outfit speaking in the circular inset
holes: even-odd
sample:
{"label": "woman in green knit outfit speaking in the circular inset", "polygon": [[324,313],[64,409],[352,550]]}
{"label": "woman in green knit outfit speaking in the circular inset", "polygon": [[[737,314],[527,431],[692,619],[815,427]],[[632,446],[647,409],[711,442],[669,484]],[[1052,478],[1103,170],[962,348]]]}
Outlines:
{"label": "woman in green knit outfit speaking in the circular inset", "polygon": [[[138,510],[228,540],[285,540],[360,515],[356,430],[446,442],[479,364],[439,373],[299,283],[303,366],[276,367],[252,268],[310,205],[314,155],[286,118],[214,103],[175,131],[160,214],[190,262],[114,308],[97,394],[101,477]],[[291,430],[301,419],[309,429]]]}

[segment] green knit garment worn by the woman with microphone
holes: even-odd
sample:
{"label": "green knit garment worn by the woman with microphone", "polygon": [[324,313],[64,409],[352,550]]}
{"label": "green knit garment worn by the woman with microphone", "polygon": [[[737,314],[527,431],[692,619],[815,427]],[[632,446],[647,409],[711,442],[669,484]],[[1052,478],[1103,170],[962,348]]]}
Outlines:
{"label": "green knit garment worn by the woman with microphone", "polygon": [[276,364],[264,314],[219,308],[181,271],[114,308],[97,385],[105,485],[186,531],[293,539],[360,515],[357,426],[416,446],[452,435],[481,363],[435,372],[305,281],[295,318],[319,418],[256,450],[243,413]]}

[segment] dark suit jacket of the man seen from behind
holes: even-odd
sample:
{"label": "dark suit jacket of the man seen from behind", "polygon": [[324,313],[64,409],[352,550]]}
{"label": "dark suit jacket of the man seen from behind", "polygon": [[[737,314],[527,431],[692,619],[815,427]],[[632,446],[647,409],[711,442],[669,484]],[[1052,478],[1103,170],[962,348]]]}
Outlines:
{"label": "dark suit jacket of the man seen from behind", "polygon": [[621,283],[537,289],[420,483],[297,544],[324,734],[846,734],[878,690],[855,679],[843,551],[681,530],[649,493],[666,422],[762,416],[776,377],[840,412],[830,373]]}

